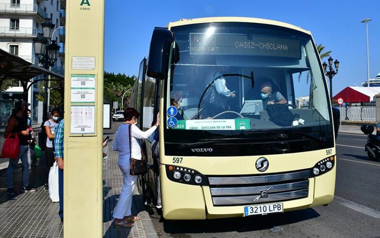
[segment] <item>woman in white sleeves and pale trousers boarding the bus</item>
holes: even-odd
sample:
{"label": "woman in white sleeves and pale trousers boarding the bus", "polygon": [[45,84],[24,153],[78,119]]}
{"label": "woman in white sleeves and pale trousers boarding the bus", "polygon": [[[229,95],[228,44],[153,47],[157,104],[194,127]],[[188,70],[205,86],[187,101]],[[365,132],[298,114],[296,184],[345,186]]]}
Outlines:
{"label": "woman in white sleeves and pale trousers boarding the bus", "polygon": [[113,226],[115,227],[132,227],[133,223],[140,220],[138,216],[133,216],[132,195],[136,184],[137,176],[130,175],[130,158],[141,159],[141,142],[140,139],[147,139],[159,126],[159,115],[157,115],[156,124],[147,131],[141,131],[137,126],[137,118],[140,115],[136,109],[127,108],[124,113],[124,124],[118,128],[113,142],[112,149],[119,151],[118,164],[123,173],[124,184],[119,201],[113,212]]}

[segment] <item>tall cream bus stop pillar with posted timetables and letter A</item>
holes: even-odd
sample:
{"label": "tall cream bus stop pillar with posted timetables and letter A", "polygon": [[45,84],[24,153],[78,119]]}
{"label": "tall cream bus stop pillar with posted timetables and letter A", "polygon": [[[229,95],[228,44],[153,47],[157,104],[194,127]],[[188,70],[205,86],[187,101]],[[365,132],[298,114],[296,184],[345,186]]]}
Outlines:
{"label": "tall cream bus stop pillar with posted timetables and letter A", "polygon": [[65,40],[63,235],[100,238],[104,0],[66,1]]}

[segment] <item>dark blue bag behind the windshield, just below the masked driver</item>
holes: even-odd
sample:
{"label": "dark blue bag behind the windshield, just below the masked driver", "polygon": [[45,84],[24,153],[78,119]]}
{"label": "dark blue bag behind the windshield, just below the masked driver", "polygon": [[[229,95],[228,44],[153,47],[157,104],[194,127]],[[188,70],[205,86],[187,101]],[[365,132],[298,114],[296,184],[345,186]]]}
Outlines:
{"label": "dark blue bag behind the windshield, just below the masked driver", "polygon": [[272,104],[267,106],[267,112],[271,120],[278,126],[290,126],[294,116],[285,104]]}

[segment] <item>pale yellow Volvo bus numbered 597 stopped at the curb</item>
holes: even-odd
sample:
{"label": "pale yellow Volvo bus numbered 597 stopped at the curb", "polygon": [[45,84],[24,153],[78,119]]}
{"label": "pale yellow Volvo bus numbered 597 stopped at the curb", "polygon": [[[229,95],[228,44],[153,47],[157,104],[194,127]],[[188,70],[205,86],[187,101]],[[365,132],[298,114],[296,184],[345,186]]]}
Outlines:
{"label": "pale yellow Volvo bus numbered 597 stopped at the curb", "polygon": [[[160,112],[163,217],[244,217],[327,205],[334,197],[338,125],[328,95],[308,30],[245,17],[156,27],[130,106],[141,113],[141,129]],[[154,164],[148,141],[144,150]],[[144,199],[156,199],[157,176],[158,169],[139,178]]]}

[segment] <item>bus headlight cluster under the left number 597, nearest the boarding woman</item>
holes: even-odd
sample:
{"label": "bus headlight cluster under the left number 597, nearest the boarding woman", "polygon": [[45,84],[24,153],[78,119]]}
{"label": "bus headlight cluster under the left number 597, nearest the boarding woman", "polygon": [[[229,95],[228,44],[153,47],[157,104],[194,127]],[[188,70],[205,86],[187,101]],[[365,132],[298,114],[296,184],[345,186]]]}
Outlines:
{"label": "bus headlight cluster under the left number 597, nearest the boarding woman", "polygon": [[192,168],[176,165],[166,165],[165,168],[167,178],[173,182],[198,186],[208,185],[207,177]]}

